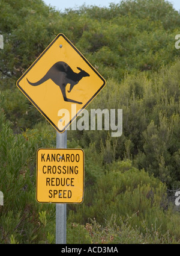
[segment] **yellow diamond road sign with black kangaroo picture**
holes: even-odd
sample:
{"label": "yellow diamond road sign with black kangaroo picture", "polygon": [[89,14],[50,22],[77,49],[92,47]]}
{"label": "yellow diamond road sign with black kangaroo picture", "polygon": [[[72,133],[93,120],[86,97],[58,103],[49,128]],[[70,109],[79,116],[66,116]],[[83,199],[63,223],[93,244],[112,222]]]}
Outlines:
{"label": "yellow diamond road sign with black kangaroo picture", "polygon": [[[17,87],[59,133],[68,128],[105,84],[64,34],[58,34],[17,81]],[[69,113],[63,123],[62,109]]]}

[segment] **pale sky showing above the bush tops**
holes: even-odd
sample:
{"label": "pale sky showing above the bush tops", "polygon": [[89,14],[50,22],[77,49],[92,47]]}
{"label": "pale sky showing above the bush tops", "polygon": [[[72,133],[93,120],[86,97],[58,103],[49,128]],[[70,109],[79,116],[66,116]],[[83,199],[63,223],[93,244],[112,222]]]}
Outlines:
{"label": "pale sky showing above the bush tops", "polygon": [[[59,11],[64,11],[65,8],[78,8],[79,6],[85,4],[85,5],[96,5],[98,7],[109,7],[110,2],[113,2],[115,4],[119,4],[121,0],[43,0],[45,4],[52,5]],[[180,0],[169,0],[168,2],[173,4],[173,7],[175,10],[180,10]]]}

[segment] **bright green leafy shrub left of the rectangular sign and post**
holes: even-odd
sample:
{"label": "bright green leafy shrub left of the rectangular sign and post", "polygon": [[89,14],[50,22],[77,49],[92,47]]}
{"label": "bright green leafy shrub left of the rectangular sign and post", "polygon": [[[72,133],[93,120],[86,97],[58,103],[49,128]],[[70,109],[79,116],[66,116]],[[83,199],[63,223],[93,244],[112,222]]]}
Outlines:
{"label": "bright green leafy shrub left of the rectangular sign and post", "polygon": [[[36,151],[48,145],[49,134],[31,130],[14,135],[2,110],[0,120],[0,190],[4,194],[4,205],[0,206],[0,241],[52,242],[55,208],[35,201]],[[47,223],[39,220],[38,212],[43,209]]]}

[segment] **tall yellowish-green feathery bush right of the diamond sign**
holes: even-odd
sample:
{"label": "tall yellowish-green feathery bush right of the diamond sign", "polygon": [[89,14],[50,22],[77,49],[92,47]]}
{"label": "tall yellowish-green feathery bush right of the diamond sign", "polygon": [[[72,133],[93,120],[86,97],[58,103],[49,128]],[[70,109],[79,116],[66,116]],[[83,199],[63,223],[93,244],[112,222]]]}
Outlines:
{"label": "tall yellowish-green feathery bush right of the diamond sign", "polygon": [[127,75],[121,83],[109,79],[89,109],[122,108],[122,136],[111,137],[106,131],[83,131],[82,136],[77,131],[80,145],[86,147],[94,142],[95,150],[103,154],[103,163],[130,158],[140,169],[154,173],[169,189],[178,188],[179,68],[176,61],[149,77],[145,73]]}

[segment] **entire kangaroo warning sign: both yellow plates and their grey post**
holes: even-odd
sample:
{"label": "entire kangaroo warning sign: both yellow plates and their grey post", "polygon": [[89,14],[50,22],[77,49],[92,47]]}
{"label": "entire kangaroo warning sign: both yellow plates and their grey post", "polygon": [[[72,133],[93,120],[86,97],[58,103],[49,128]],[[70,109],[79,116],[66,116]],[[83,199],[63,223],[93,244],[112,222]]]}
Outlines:
{"label": "entire kangaroo warning sign: both yellow plates and their grey post", "polygon": [[[0,48],[2,48],[2,37],[0,37],[0,44]],[[92,99],[98,95],[100,90],[106,85],[106,81],[64,34],[58,34],[26,72],[23,73],[16,84],[29,101],[34,104],[38,111],[56,129],[56,149],[67,149],[68,126],[71,125],[73,120],[79,116]],[[72,105],[75,105],[75,108],[72,108]],[[61,110],[66,110],[68,114],[64,116]],[[37,158],[39,152],[37,152]],[[44,198],[45,194],[44,190],[41,190],[42,186],[44,186],[44,179],[46,181],[46,189],[50,189],[50,186],[55,186],[55,179],[59,181],[58,177],[55,178],[53,176],[50,179],[50,177],[45,175],[48,174],[45,170],[46,165],[43,165],[45,155],[42,154],[40,163],[37,162],[37,166],[40,164],[40,167],[37,168],[37,184],[40,184],[38,185],[40,187],[37,186],[37,191],[40,191],[40,199],[42,199],[42,196]],[[67,159],[69,159],[70,154],[67,155]],[[53,190],[52,196],[52,190],[50,189],[50,199],[52,197],[53,199],[57,197],[60,199],[69,199],[72,196],[71,199],[75,200],[73,195],[77,195],[79,196],[78,200],[75,200],[74,203],[82,202],[83,183],[81,181],[83,181],[84,177],[84,154],[81,152],[77,155],[79,155],[78,161],[76,160],[78,164],[74,166],[74,163],[71,163],[71,168],[79,167],[78,173],[81,174],[81,179],[77,178],[77,176],[76,179],[75,176],[72,177],[71,190],[63,190],[63,196],[61,194],[62,190],[58,188]],[[49,158],[46,161],[49,161]],[[56,161],[59,162],[59,160]],[[49,164],[48,168],[50,167],[52,166]],[[53,168],[55,169],[56,165]],[[71,172],[73,174],[72,169]],[[39,176],[43,179],[40,179],[42,183],[38,183]],[[67,180],[70,181],[70,177]],[[75,186],[76,181],[78,181],[77,186]],[[66,186],[70,186],[70,184],[68,183]],[[75,193],[73,188],[77,188],[79,192]],[[39,195],[39,193],[37,194]],[[41,202],[41,200],[38,202]],[[49,200],[48,202],[52,201]],[[56,203],[56,244],[65,244],[66,207],[69,201],[62,201],[62,203],[54,202]]]}

